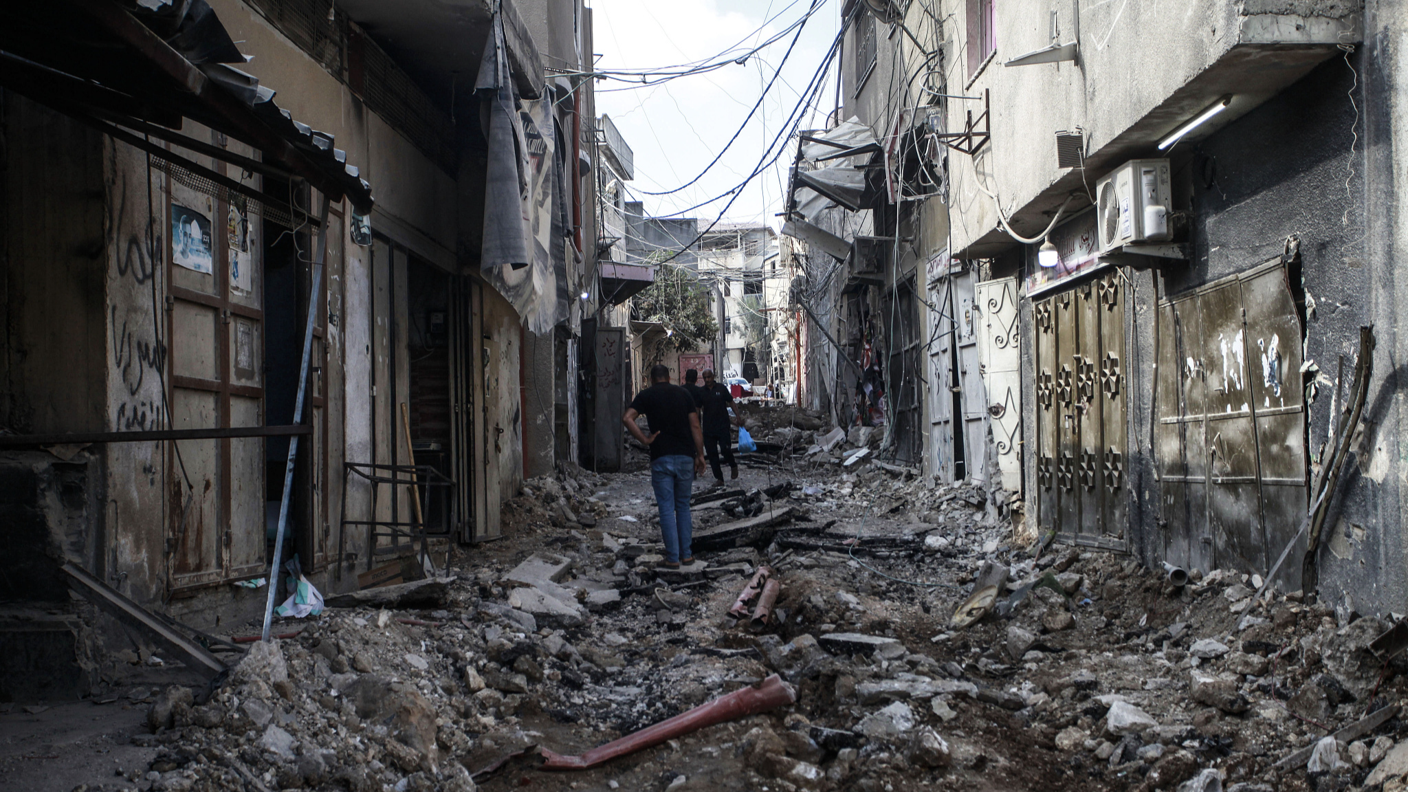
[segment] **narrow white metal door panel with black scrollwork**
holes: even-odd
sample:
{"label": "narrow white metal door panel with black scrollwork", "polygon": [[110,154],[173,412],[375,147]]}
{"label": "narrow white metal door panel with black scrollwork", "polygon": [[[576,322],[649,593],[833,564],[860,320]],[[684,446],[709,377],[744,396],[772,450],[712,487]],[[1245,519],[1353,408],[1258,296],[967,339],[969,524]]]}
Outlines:
{"label": "narrow white metal door panel with black scrollwork", "polygon": [[1017,278],[983,280],[974,287],[979,309],[977,357],[987,393],[988,434],[993,438],[988,459],[995,469],[988,478],[1001,476],[1011,492],[1022,488],[1021,455],[1022,402],[1021,357],[1018,355]]}

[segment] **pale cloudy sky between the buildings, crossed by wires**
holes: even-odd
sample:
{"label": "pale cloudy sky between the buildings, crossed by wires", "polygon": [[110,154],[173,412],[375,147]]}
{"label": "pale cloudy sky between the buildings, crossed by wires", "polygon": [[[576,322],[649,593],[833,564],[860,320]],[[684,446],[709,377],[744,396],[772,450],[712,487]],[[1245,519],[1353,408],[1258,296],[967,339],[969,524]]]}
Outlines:
{"label": "pale cloudy sky between the buildings, crossed by wires", "polygon": [[[743,55],[801,18],[811,0],[591,0],[597,68],[659,69],[712,61],[721,52]],[[821,65],[839,30],[841,0],[822,0],[807,21],[797,47],[763,106],[719,162],[697,183],[674,194],[646,192],[676,189],[700,175],[738,131],[767,80],[772,79],[794,32],[749,58],[745,65],[674,79],[658,86],[629,87],[618,80],[597,82],[597,111],[611,116],[635,152],[635,180],[628,194],[645,202],[649,214],[670,214],[721,196],[739,185],[759,163],[767,144],[800,101],[800,93]],[[776,17],[776,18],[773,18]],[[772,20],[772,21],[769,21]],[[808,114],[803,128],[824,125],[835,104],[835,83],[821,92],[821,113]],[[625,89],[625,90],[621,90]],[[777,225],[787,166],[796,145],[760,173],[724,216],[729,221]],[[712,220],[724,200],[684,216]]]}

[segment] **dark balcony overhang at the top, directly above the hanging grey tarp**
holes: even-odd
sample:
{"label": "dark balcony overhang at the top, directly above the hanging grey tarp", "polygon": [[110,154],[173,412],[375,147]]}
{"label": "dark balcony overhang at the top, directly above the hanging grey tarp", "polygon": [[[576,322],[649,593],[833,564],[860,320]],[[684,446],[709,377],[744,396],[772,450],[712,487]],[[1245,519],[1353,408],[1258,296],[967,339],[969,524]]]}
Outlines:
{"label": "dark balcony overhang at the top, directly above the hanging grey tarp", "polygon": [[496,4],[503,13],[514,85],[522,97],[539,99],[542,58],[511,0],[338,0],[338,10],[418,82],[451,96],[456,87],[473,86]]}

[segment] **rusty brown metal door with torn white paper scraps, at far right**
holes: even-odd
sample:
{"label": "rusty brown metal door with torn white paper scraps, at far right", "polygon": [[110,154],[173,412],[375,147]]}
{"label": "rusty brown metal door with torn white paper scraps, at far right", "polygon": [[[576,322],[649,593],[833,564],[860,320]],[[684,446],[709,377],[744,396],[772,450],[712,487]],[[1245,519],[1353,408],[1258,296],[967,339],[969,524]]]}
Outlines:
{"label": "rusty brown metal door with torn white paper scraps, at far right", "polygon": [[1301,328],[1286,268],[1270,262],[1163,302],[1159,344],[1164,555],[1264,571],[1307,502]]}

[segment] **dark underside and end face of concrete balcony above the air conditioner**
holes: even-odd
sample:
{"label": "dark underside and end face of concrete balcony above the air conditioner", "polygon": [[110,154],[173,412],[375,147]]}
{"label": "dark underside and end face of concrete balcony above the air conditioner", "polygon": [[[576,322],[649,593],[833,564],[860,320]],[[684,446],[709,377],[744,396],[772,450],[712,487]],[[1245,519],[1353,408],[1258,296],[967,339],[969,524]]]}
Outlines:
{"label": "dark underside and end face of concrete balcony above the air conditioner", "polygon": [[[1131,159],[1167,156],[1167,152],[1157,149],[1159,141],[1219,97],[1231,94],[1232,103],[1228,104],[1226,110],[1184,137],[1180,145],[1202,140],[1225,128],[1340,52],[1339,44],[1363,38],[1357,14],[1352,14],[1346,20],[1319,18],[1315,24],[1304,24],[1304,17],[1286,14],[1243,17],[1239,44],[1231,47],[1207,69],[1169,94],[1108,144],[1086,155],[1084,171],[1080,168],[1067,171],[1015,210],[1010,217],[1012,230],[1024,237],[1039,234],[1067,197],[1071,200],[1066,209],[1066,217],[1090,206],[1090,199],[1086,197],[1087,183],[1090,189],[1094,189],[1095,179]],[[956,259],[993,258],[1018,244],[994,225],[966,247],[955,249],[952,255]]]}

